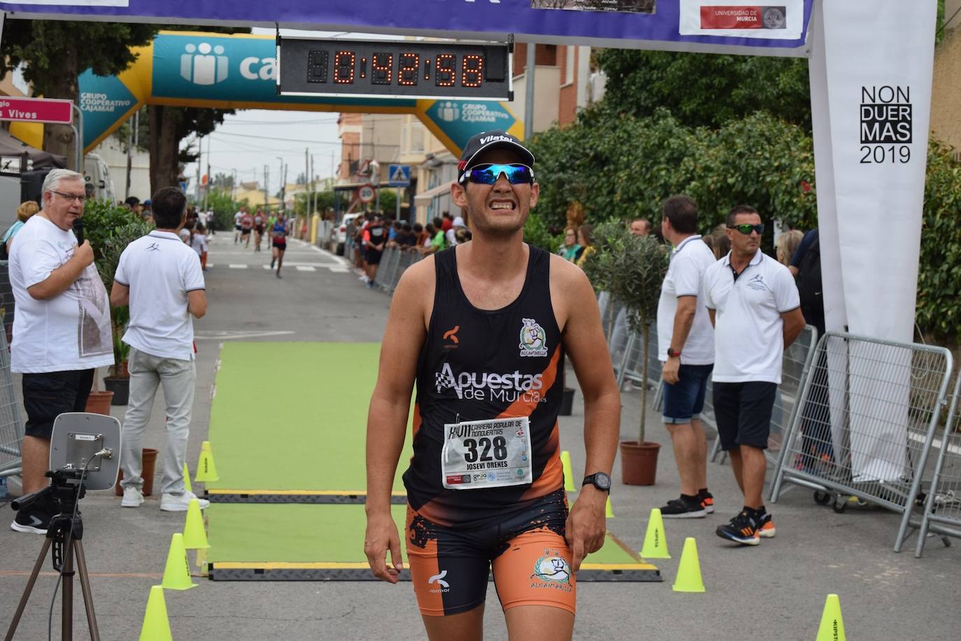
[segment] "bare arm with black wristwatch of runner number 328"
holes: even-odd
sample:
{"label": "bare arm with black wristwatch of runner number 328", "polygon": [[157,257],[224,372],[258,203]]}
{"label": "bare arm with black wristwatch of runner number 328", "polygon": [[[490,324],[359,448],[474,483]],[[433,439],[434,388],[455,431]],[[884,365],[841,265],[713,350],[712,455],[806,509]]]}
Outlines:
{"label": "bare arm with black wristwatch of runner number 328", "polygon": [[[552,275],[564,295],[554,295],[554,308],[561,308],[564,316],[564,349],[571,358],[584,397],[584,475],[604,472],[610,474],[617,451],[621,424],[621,394],[614,381],[601,327],[594,289],[587,277],[574,265],[554,257]],[[562,303],[558,305],[558,302]],[[578,479],[575,484],[578,484]],[[567,541],[571,546],[572,567],[575,572],[583,557],[597,552],[604,545],[604,505],[607,493],[593,485],[581,488],[578,500],[567,519]]]}

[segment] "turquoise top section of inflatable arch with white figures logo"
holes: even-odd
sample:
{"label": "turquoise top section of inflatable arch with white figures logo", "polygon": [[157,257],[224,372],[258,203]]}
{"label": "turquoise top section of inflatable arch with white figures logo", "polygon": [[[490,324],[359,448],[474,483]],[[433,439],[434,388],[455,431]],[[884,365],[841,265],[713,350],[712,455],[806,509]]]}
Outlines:
{"label": "turquoise top section of inflatable arch with white figures logo", "polygon": [[415,100],[277,95],[277,45],[272,37],[160,34],[154,39],[155,98],[218,103],[413,107]]}

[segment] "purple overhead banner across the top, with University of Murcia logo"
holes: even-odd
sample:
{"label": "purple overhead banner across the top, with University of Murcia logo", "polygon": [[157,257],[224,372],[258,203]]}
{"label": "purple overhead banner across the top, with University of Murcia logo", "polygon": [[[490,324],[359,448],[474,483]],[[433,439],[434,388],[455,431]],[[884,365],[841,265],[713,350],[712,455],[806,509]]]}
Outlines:
{"label": "purple overhead banner across the top, with University of Murcia logo", "polygon": [[[52,1],[52,0],[47,0]],[[59,3],[70,0],[56,0]],[[742,0],[743,1],[743,0]],[[697,9],[699,0],[261,0],[198,2],[197,0],[129,0],[127,6],[103,6],[94,0],[76,5],[41,4],[42,0],[0,2],[9,17],[115,19],[117,21],[192,25],[273,26],[357,31],[397,35],[430,35],[647,48],[723,51],[799,50],[807,35],[812,0],[798,0],[786,20],[798,25],[800,38],[785,39],[770,31],[752,37],[680,35],[681,14]],[[124,4],[111,0],[110,4]],[[704,5],[716,4],[709,1]],[[683,6],[682,6],[683,5]],[[738,0],[729,5],[738,6]],[[566,11],[577,10],[577,11]],[[699,10],[700,11],[700,10]],[[801,14],[799,14],[801,13]],[[770,36],[770,37],[769,37]],[[783,55],[783,52],[781,52]]]}

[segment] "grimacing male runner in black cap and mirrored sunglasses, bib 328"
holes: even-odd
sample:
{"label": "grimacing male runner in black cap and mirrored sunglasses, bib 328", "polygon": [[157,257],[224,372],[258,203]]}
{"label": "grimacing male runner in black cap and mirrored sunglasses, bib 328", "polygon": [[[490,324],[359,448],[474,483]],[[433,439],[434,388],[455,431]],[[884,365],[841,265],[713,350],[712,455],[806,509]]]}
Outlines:
{"label": "grimacing male runner in black cap and mirrored sunglasses, bib 328", "polygon": [[[474,239],[407,268],[387,317],[364,552],[374,576],[397,582],[390,491],[416,381],[405,538],[434,640],[481,638],[491,565],[510,638],[570,639],[576,573],[604,544],[620,395],[590,283],[523,242],[533,161],[503,132],[468,141],[451,191]],[[565,352],[584,396],[587,473],[570,511],[556,420]]]}

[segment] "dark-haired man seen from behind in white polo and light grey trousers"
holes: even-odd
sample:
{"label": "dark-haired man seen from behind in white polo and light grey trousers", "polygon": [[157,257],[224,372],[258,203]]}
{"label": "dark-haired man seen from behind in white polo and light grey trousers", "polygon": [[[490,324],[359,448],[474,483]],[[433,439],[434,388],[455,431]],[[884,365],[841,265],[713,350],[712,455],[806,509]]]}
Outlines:
{"label": "dark-haired man seen from behind in white polo and light grey trousers", "polygon": [[[163,451],[160,509],[184,511],[197,498],[184,486],[186,440],[197,371],[193,360],[193,321],[207,313],[204,275],[197,253],[181,242],[186,199],[180,189],[154,194],[157,229],[127,245],[111,288],[111,304],[130,305],[123,341],[130,345],[130,405],[123,424],[124,507],[143,503],[140,444],[150,410],[163,386],[167,444]],[[201,499],[200,506],[209,502]]]}

